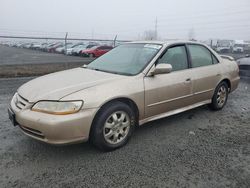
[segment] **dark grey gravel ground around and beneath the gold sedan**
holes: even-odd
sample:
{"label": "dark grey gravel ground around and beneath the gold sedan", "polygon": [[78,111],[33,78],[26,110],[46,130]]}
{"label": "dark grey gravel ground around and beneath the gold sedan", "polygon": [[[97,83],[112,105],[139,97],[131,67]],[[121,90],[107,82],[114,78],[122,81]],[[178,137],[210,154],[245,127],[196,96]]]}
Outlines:
{"label": "dark grey gravel ground around and beneath the gold sedan", "polygon": [[50,146],[7,117],[17,87],[0,79],[0,187],[250,187],[250,82],[222,111],[207,106],[147,123],[123,148]]}

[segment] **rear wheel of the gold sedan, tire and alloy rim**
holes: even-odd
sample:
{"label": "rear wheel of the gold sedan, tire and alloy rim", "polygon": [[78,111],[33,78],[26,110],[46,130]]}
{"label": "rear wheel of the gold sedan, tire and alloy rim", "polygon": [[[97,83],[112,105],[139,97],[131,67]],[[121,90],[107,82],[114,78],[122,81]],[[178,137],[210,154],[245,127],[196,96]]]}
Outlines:
{"label": "rear wheel of the gold sedan, tire and alloy rim", "polygon": [[209,107],[212,110],[221,110],[226,105],[227,98],[228,84],[226,82],[221,82],[214,91],[212,103],[209,105]]}

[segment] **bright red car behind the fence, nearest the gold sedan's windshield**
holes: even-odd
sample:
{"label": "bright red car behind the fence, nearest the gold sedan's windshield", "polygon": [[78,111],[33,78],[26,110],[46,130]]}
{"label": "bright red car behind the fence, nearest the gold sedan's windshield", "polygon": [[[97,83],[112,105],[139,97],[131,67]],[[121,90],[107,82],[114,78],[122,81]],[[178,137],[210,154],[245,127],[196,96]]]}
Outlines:
{"label": "bright red car behind the fence, nearest the gold sedan's windshield", "polygon": [[112,46],[94,46],[92,48],[82,50],[80,55],[83,57],[100,57],[111,49],[113,49]]}

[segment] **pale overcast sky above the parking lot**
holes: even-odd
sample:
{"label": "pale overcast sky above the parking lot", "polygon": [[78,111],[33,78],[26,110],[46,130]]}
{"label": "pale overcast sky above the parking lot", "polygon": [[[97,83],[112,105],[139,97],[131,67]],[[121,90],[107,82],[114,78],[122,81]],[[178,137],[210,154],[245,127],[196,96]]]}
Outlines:
{"label": "pale overcast sky above the parking lot", "polygon": [[[157,19],[157,24],[156,24]],[[0,0],[0,35],[250,40],[250,0]]]}

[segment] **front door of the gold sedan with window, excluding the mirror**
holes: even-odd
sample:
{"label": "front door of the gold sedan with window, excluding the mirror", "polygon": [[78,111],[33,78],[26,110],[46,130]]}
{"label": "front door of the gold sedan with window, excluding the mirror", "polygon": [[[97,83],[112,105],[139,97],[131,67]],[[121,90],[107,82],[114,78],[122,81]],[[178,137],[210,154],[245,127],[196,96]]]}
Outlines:
{"label": "front door of the gold sedan with window, excluding the mirror", "polygon": [[171,64],[173,70],[144,78],[146,118],[192,103],[193,74],[185,45],[170,47],[157,63]]}

